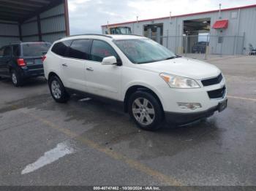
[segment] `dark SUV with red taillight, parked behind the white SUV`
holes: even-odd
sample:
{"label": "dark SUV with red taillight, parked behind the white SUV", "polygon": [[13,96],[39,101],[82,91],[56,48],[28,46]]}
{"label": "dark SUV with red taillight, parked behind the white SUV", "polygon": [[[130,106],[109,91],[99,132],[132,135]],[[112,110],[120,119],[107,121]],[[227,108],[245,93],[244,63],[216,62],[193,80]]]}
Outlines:
{"label": "dark SUV with red taillight, parked behind the white SUV", "polygon": [[44,76],[43,56],[50,48],[49,42],[15,42],[0,49],[0,78],[11,77],[15,86],[23,79]]}

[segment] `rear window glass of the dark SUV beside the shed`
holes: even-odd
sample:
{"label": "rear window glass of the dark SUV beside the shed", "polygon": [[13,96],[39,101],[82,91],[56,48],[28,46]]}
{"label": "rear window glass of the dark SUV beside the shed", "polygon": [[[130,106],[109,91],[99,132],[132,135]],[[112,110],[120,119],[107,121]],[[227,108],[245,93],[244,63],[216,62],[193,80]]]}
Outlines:
{"label": "rear window glass of the dark SUV beside the shed", "polygon": [[47,42],[33,42],[22,45],[23,56],[42,56],[48,52],[50,43]]}

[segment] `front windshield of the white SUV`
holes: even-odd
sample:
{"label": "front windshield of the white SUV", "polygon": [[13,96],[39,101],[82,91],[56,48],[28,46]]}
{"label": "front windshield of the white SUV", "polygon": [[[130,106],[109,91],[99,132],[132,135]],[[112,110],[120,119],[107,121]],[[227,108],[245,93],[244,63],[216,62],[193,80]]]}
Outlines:
{"label": "front windshield of the white SUV", "polygon": [[132,63],[151,63],[176,58],[176,55],[151,39],[121,39],[114,43]]}

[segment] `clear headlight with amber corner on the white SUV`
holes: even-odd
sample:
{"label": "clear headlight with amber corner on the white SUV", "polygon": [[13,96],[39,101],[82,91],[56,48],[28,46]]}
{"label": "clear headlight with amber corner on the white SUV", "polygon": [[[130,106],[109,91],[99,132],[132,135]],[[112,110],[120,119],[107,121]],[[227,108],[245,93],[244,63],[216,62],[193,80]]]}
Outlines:
{"label": "clear headlight with amber corner on the white SUV", "polygon": [[200,85],[194,79],[187,77],[179,77],[173,74],[159,74],[162,79],[167,82],[167,85],[173,88],[199,88]]}

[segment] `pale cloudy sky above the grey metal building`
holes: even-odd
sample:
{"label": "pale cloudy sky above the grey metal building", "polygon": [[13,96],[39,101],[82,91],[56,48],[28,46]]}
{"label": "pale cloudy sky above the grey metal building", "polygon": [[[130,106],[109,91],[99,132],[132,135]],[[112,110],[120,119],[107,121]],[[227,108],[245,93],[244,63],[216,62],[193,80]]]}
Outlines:
{"label": "pale cloudy sky above the grey metal building", "polygon": [[256,4],[256,0],[68,0],[70,34],[101,34],[102,25]]}

